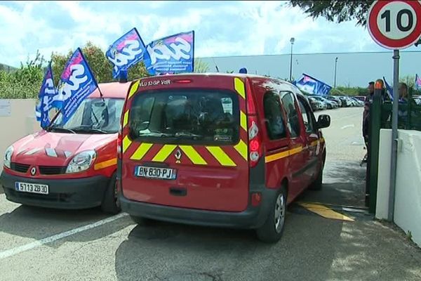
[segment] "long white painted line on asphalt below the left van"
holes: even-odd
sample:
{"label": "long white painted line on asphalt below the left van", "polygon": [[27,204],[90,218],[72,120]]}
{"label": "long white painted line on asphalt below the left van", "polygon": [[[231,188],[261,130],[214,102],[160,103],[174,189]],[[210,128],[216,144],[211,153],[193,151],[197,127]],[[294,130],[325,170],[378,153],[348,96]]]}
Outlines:
{"label": "long white painted line on asphalt below the left van", "polygon": [[53,236],[50,236],[50,237],[46,237],[46,238],[38,240],[38,241],[34,241],[34,242],[31,242],[31,243],[28,243],[28,244],[25,244],[25,245],[22,245],[22,246],[19,246],[19,247],[15,247],[13,249],[8,249],[6,251],[0,251],[0,260],[8,258],[9,256],[14,256],[15,254],[22,253],[22,251],[34,249],[34,248],[40,247],[44,244],[55,242],[55,241],[60,240],[62,238],[75,235],[76,233],[81,233],[83,231],[90,230],[90,229],[96,228],[98,226],[102,226],[106,223],[111,223],[112,221],[116,221],[117,219],[123,218],[124,216],[127,216],[127,214],[121,213],[121,214],[118,214],[116,216],[110,216],[109,218],[104,218],[104,219],[102,219],[100,221],[97,221],[95,223],[88,224],[87,226],[81,226],[80,228],[74,228],[74,229],[68,230],[64,233],[59,233],[59,234],[56,234],[56,235],[53,235]]}

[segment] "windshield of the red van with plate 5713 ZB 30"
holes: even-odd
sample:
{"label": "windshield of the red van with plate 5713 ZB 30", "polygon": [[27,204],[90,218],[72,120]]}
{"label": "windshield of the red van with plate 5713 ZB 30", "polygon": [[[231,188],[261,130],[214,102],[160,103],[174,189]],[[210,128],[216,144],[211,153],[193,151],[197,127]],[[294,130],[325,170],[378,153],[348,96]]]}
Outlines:
{"label": "windshield of the red van with plate 5713 ZB 30", "polygon": [[122,98],[86,98],[66,124],[58,114],[49,130],[63,133],[117,133],[123,110]]}

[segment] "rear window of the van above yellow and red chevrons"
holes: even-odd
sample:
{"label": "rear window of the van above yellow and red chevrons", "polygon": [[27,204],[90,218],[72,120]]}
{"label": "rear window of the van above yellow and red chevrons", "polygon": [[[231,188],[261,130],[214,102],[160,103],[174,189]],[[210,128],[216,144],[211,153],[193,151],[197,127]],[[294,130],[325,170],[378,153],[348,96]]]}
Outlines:
{"label": "rear window of the van above yellow and red chevrons", "polygon": [[129,115],[133,141],[232,145],[239,141],[239,100],[223,90],[144,91]]}

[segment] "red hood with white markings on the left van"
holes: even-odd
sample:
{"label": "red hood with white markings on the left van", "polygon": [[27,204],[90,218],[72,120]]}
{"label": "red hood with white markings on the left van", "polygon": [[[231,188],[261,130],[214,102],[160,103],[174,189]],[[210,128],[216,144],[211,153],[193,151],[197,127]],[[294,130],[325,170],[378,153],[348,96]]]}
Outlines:
{"label": "red hood with white markings on the left van", "polygon": [[112,141],[114,134],[52,133],[38,131],[13,143],[12,162],[64,166],[84,150],[98,150]]}

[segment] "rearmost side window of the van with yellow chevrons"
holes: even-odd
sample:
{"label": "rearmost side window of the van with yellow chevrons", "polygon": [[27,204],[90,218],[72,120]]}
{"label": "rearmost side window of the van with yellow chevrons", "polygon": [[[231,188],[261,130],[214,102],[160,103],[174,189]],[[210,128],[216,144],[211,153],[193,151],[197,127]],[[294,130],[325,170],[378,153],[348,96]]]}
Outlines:
{"label": "rearmost side window of the van with yellow chevrons", "polygon": [[265,93],[265,96],[263,97],[263,107],[265,110],[265,124],[269,139],[277,140],[279,138],[286,138],[285,122],[283,120],[279,96],[273,92]]}

